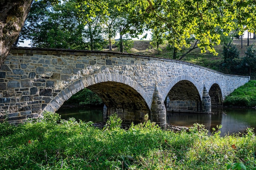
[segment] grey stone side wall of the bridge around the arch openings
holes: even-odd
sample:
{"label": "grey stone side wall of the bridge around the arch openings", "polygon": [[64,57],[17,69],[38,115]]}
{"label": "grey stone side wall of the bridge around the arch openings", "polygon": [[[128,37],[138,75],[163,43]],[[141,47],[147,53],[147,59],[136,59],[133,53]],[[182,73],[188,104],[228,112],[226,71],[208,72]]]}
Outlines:
{"label": "grey stone side wall of the bridge around the arch openings", "polygon": [[[87,56],[90,56],[91,60],[82,61],[82,58]],[[67,57],[68,60],[65,60],[65,57]],[[99,58],[101,58],[104,63],[98,61]],[[118,60],[114,60],[114,58],[118,58]],[[72,67],[69,67],[68,64],[74,62],[74,60],[76,60],[76,63],[72,63]],[[109,63],[110,60],[111,63]],[[121,60],[124,60],[124,62]],[[101,65],[99,64],[100,66],[97,66],[97,63],[90,63],[91,61],[99,62]],[[114,62],[120,62],[121,64]],[[113,68],[114,65],[116,70]],[[53,67],[54,69],[52,69]],[[169,69],[169,67],[172,67],[172,69]],[[224,99],[225,96],[229,95],[235,88],[245,84],[245,82],[248,82],[250,79],[248,76],[226,75],[209,68],[180,60],[146,55],[115,53],[110,51],[13,47],[0,71],[0,110],[2,110],[0,119],[4,118],[5,112],[10,112],[9,122],[20,123],[26,121],[29,117],[40,116],[41,111],[45,110],[44,108],[42,109],[42,106],[47,108],[54,104],[61,105],[61,103],[65,102],[64,100],[67,100],[77,91],[70,89],[72,93],[68,93],[67,95],[67,93],[64,93],[65,90],[63,87],[72,86],[77,88],[77,84],[83,83],[81,80],[83,76],[90,71],[93,72],[95,68],[99,68],[97,71],[99,71],[99,74],[101,73],[101,78],[104,74],[103,77],[105,76],[105,80],[107,80],[108,75],[115,74],[115,78],[108,80],[124,83],[135,89],[145,100],[150,110],[153,95],[155,94],[156,83],[158,84],[159,94],[162,97],[166,97],[168,91],[175,85],[175,83],[171,83],[175,77],[176,79],[177,77],[182,77],[178,78],[179,81],[188,80],[192,82],[198,89],[201,99],[203,97],[204,87],[207,89],[207,92],[209,92],[213,84],[218,84]],[[47,69],[49,69],[49,71],[47,71]],[[169,69],[169,71],[164,71],[164,69]],[[191,69],[191,71],[202,71],[202,74],[191,74],[189,69]],[[51,70],[53,73],[49,74]],[[78,74],[80,73],[79,71],[85,71],[87,73],[84,73],[82,76]],[[140,71],[145,73],[140,73]],[[175,73],[173,73],[173,71]],[[206,73],[208,73],[208,77]],[[213,79],[211,79],[209,73],[215,77],[213,76]],[[93,75],[98,78],[97,74]],[[70,77],[73,78],[70,82],[79,83],[77,83],[76,86],[75,84],[72,85],[72,83],[65,84],[65,81],[67,82],[65,78]],[[204,79],[202,77],[204,77]],[[117,81],[117,79],[119,79],[119,81]],[[120,81],[121,79],[122,81]],[[236,81],[239,83],[236,83]],[[81,85],[81,88],[83,88],[83,86]],[[168,88],[166,88],[166,86]],[[227,86],[229,87],[227,88]],[[136,87],[140,88],[136,89]],[[52,92],[51,94],[50,91]],[[163,100],[164,98],[162,102]]]}

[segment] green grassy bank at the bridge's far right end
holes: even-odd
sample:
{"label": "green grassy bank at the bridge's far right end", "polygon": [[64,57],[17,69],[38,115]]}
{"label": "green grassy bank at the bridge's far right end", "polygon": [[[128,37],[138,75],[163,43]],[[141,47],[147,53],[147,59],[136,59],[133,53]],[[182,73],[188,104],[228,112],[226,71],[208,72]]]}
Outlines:
{"label": "green grassy bank at the bridge's far right end", "polygon": [[224,101],[225,106],[256,106],[256,80],[251,80],[244,86],[234,90]]}

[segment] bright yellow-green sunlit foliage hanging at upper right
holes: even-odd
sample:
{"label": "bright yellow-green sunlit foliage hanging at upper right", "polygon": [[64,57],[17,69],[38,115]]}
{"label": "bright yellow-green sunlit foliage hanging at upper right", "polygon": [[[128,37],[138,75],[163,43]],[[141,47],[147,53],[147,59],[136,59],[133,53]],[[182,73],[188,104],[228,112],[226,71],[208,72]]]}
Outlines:
{"label": "bright yellow-green sunlit foliage hanging at upper right", "polygon": [[199,47],[202,53],[209,51],[217,55],[214,46],[220,44],[218,30],[228,35],[238,26],[248,24],[249,18],[255,18],[255,16],[246,15],[246,20],[243,20],[245,22],[238,22],[242,21],[242,18],[239,18],[243,16],[241,10],[249,14],[250,9],[255,13],[255,4],[251,3],[249,8],[247,4],[252,0],[236,2],[238,1],[148,0],[149,18],[155,21],[151,28],[155,29],[159,22],[162,22],[169,33],[167,40],[178,50],[182,47],[190,48],[191,44],[187,40],[194,37],[198,41],[192,49]]}

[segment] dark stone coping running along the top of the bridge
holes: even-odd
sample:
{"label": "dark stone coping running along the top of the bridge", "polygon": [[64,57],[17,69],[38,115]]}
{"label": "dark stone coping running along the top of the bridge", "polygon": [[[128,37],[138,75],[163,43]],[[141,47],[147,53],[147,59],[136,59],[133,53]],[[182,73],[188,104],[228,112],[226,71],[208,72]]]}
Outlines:
{"label": "dark stone coping running along the top of the bridge", "polygon": [[[52,51],[52,53],[49,53],[49,51]],[[155,56],[150,56],[150,55],[137,55],[137,54],[132,54],[132,53],[120,53],[120,52],[114,52],[114,51],[90,51],[90,50],[54,49],[54,48],[20,47],[20,46],[13,46],[11,48],[10,53],[26,53],[26,54],[40,53],[40,54],[52,54],[52,55],[54,55],[54,54],[56,54],[56,55],[67,55],[67,54],[83,55],[85,53],[93,53],[93,54],[100,53],[99,55],[103,55],[105,53],[105,55],[111,54],[111,55],[125,56],[125,57],[144,58],[147,60],[154,59],[154,60],[177,62],[177,63],[182,63],[182,64],[187,64],[187,65],[203,68],[203,69],[213,71],[213,72],[216,72],[216,73],[219,73],[222,75],[229,75],[229,76],[234,76],[234,77],[249,77],[249,80],[250,80],[250,76],[225,74],[225,73],[221,73],[219,71],[212,70],[210,68],[196,65],[196,64],[193,64],[190,62],[184,62],[181,60],[175,60],[175,59],[169,59],[169,58],[163,58],[163,57],[155,57]]]}

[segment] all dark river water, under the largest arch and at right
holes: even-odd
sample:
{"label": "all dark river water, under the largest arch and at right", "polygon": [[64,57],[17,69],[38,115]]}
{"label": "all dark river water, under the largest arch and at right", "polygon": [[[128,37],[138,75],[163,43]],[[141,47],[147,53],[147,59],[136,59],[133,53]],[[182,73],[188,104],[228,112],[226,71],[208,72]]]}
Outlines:
{"label": "all dark river water, under the largest arch and at right", "polygon": [[[221,135],[246,132],[246,129],[256,128],[256,109],[245,108],[212,108],[214,114],[171,113],[166,115],[167,124],[175,126],[193,126],[194,123],[204,124],[212,132],[212,128],[222,125]],[[62,119],[74,117],[76,120],[103,121],[103,108],[65,108],[57,111]]]}

